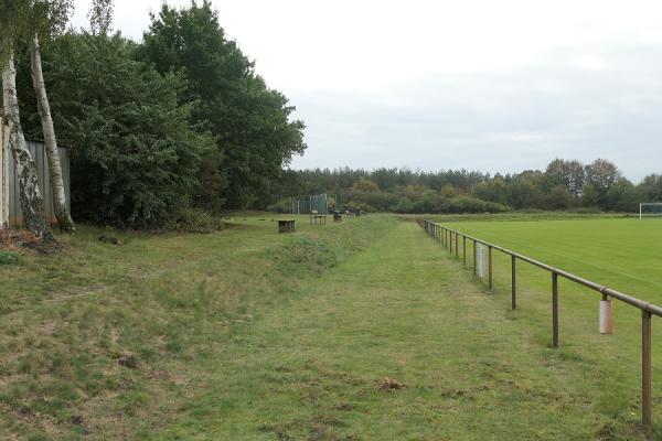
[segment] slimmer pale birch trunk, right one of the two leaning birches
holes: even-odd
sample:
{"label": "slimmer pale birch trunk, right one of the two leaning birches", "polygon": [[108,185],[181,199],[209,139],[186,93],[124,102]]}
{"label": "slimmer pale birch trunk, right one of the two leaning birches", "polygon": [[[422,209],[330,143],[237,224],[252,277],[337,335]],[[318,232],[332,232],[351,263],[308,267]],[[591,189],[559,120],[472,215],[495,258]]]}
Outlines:
{"label": "slimmer pale birch trunk, right one of the two leaning birches", "polygon": [[44,142],[46,144],[46,158],[49,159],[49,174],[51,178],[51,189],[53,189],[53,209],[60,229],[72,233],[75,230],[74,220],[66,207],[66,195],[64,192],[64,180],[62,179],[62,165],[57,152],[57,140],[55,139],[55,129],[53,128],[53,118],[51,117],[51,105],[46,95],[46,85],[42,72],[41,52],[39,36],[35,34],[32,41],[31,67],[32,84],[36,95],[36,105],[42,120],[42,131],[44,132]]}

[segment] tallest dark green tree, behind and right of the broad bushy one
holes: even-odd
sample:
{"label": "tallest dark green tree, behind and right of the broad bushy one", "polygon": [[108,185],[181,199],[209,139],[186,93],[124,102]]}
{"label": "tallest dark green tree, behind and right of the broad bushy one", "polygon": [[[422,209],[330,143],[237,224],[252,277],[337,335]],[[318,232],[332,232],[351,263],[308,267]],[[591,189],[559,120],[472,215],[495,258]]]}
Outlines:
{"label": "tallest dark green tree, behind and right of the broad bushy one", "polygon": [[293,154],[306,149],[295,107],[255,74],[254,64],[226,37],[209,1],[178,10],[162,6],[139,47],[162,74],[189,79],[183,103],[199,100],[194,121],[216,137],[225,154],[229,207],[267,205],[270,182]]}

